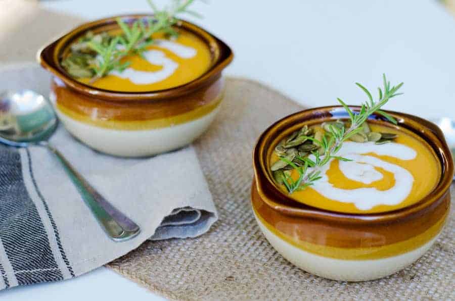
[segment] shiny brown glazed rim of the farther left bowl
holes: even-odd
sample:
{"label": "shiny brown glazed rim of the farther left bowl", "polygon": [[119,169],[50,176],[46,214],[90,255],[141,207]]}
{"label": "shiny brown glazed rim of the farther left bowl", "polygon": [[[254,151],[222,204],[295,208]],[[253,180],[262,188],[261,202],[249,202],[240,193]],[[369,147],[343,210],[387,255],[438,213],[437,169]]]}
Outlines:
{"label": "shiny brown glazed rim of the farther left bowl", "polygon": [[47,46],[44,46],[37,53],[37,60],[42,67],[53,73],[59,79],[61,79],[68,87],[77,92],[88,96],[96,96],[97,98],[102,98],[108,101],[131,101],[131,99],[150,101],[155,99],[165,99],[175,96],[181,96],[189,94],[194,90],[197,90],[201,87],[209,85],[216,79],[220,77],[221,71],[228,66],[234,58],[234,54],[231,48],[225,44],[223,41],[218,39],[213,34],[204,30],[203,28],[190,23],[188,21],[179,20],[175,25],[177,28],[184,29],[189,31],[199,38],[201,38],[209,47],[214,60],[210,68],[204,72],[198,78],[187,82],[183,85],[155,90],[155,91],[142,91],[142,92],[122,92],[114,90],[106,90],[96,88],[81,82],[78,82],[72,78],[60,65],[60,56],[65,51],[67,46],[73,42],[75,39],[80,37],[88,30],[96,30],[104,26],[115,26],[116,18],[122,18],[124,21],[131,22],[136,19],[151,17],[152,14],[128,14],[128,15],[119,15],[108,17],[92,22],[87,22],[79,25],[74,28],[67,34],[58,38],[54,42],[50,43]]}

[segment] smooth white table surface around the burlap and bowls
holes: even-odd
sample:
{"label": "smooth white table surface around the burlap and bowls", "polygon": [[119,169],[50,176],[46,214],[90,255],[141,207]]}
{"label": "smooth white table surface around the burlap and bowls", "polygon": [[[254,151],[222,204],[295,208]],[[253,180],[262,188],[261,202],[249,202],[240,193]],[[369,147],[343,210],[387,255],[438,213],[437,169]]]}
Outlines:
{"label": "smooth white table surface around the burlap and bowls", "polygon": [[[87,19],[149,11],[145,0],[41,5]],[[234,50],[226,74],[261,81],[315,107],[335,104],[336,97],[359,104],[365,96],[354,82],[376,89],[386,72],[392,83],[405,82],[405,94],[387,109],[455,118],[455,19],[435,0],[211,0],[195,6],[205,18],[188,19]],[[0,299],[161,298],[103,267],[64,282],[13,288]]]}

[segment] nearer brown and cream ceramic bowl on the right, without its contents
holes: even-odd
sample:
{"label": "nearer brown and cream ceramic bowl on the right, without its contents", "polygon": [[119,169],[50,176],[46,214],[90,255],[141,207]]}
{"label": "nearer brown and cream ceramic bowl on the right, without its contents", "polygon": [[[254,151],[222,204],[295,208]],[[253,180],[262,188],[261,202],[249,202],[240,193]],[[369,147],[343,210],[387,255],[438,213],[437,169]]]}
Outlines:
{"label": "nearer brown and cream ceramic bowl on the right, without its contents", "polygon": [[303,124],[346,118],[344,109],[324,107],[290,115],[270,126],[258,139],[253,153],[253,211],[272,246],[296,266],[336,280],[376,279],[417,260],[440,233],[450,205],[450,151],[434,124],[407,114],[389,113],[398,120],[398,126],[378,116],[371,117],[369,123],[420,136],[433,149],[441,168],[436,187],[427,196],[389,212],[359,214],[318,209],[296,202],[272,180],[268,160],[272,145]]}

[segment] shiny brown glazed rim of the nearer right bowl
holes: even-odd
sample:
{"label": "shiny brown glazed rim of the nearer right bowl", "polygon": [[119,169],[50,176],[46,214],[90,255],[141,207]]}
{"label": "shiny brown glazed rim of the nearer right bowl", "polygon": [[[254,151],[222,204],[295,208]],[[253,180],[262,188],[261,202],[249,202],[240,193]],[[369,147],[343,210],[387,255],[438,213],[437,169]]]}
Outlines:
{"label": "shiny brown glazed rim of the nearer right bowl", "polygon": [[[360,108],[358,106],[349,107],[357,112]],[[329,119],[348,118],[346,111],[341,106],[319,107],[291,114],[269,126],[259,136],[253,150],[253,169],[256,187],[263,202],[275,211],[285,215],[343,223],[390,222],[398,219],[419,217],[432,210],[449,191],[453,177],[453,161],[444,135],[435,124],[420,117],[393,111],[386,112],[396,118],[398,126],[394,126],[381,115],[370,116],[369,122],[394,126],[398,130],[404,128],[417,134],[427,141],[441,164],[439,182],[419,202],[394,211],[380,213],[341,213],[298,203],[276,186],[266,167],[268,166],[269,149],[272,143],[277,141],[277,137],[280,136],[279,133],[288,132],[293,126],[296,127],[305,122],[320,123]]]}

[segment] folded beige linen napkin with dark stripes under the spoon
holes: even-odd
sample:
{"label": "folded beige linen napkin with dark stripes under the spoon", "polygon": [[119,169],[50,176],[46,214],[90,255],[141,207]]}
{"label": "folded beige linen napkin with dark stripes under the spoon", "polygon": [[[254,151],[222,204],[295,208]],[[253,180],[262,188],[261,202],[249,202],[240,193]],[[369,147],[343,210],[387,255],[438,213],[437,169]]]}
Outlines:
{"label": "folded beige linen napkin with dark stripes under the spoon", "polygon": [[[49,95],[50,75],[35,64],[0,69],[0,78],[0,91],[27,87]],[[50,141],[142,231],[112,241],[49,150],[0,145],[0,289],[75,277],[147,239],[195,237],[217,220],[192,146],[147,159],[115,158],[62,126]]]}

